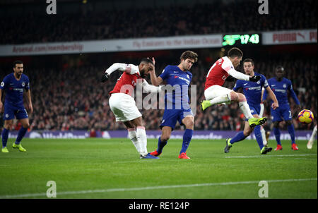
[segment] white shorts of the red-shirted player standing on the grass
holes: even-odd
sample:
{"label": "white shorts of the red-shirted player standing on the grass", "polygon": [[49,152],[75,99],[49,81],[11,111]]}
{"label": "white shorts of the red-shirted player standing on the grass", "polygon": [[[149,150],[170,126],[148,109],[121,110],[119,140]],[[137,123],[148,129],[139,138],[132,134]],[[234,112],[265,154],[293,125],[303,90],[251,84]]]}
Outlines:
{"label": "white shorts of the red-shirted player standing on the grass", "polygon": [[132,121],[141,117],[136,102],[130,95],[121,92],[112,93],[108,102],[116,121]]}

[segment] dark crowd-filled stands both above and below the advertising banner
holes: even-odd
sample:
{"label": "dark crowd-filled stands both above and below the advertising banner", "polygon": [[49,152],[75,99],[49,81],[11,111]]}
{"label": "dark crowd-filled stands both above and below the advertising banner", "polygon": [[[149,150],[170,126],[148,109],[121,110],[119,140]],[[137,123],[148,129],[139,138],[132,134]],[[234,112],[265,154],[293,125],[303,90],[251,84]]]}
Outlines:
{"label": "dark crowd-filled stands both above and below the advertising banner", "polygon": [[[57,1],[57,15],[47,15],[45,1],[1,1],[0,45],[45,42],[72,42],[100,39],[131,39],[180,35],[245,34],[280,30],[317,28],[317,1],[271,1],[271,16],[260,15],[258,1]],[[317,37],[317,35],[316,35]],[[317,38],[316,38],[317,39]],[[292,80],[302,109],[317,116],[317,42],[313,44],[246,45],[240,47],[244,58],[252,58],[255,71],[267,79],[275,66],[285,68]],[[211,65],[230,47],[192,49],[199,61],[192,68],[192,84],[197,86],[197,105],[204,99],[204,81]],[[11,73],[11,64],[23,61],[30,78],[33,114],[32,130],[118,130],[107,105],[108,92],[121,73],[100,83],[102,73],[114,62],[139,63],[142,57],[155,57],[157,75],[168,64],[177,65],[182,51],[118,51],[38,56],[1,56],[0,78]],[[239,69],[242,70],[242,67]],[[150,79],[148,78],[148,82]],[[234,83],[225,83],[232,88]],[[311,130],[317,124],[303,126],[290,99],[296,130]],[[158,130],[163,110],[143,110],[148,130]],[[1,115],[2,116],[2,115]],[[264,116],[269,116],[269,105]],[[1,121],[3,122],[2,118]],[[242,130],[244,120],[237,104],[211,107],[204,114],[196,110],[195,130]],[[2,127],[2,125],[1,125]],[[285,128],[284,123],[281,127]],[[15,123],[14,129],[20,125]],[[182,128],[177,126],[177,129]],[[271,120],[266,123],[272,128]]]}

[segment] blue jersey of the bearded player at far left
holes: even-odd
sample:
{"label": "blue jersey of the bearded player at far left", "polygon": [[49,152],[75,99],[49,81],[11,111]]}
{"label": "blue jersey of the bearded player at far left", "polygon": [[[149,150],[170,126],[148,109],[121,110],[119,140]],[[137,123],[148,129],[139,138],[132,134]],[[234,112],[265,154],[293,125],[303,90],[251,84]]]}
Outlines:
{"label": "blue jersey of the bearded player at far left", "polygon": [[30,89],[30,82],[27,75],[22,74],[20,80],[16,80],[11,73],[4,77],[0,89],[6,93],[5,104],[11,104],[15,107],[23,106],[23,90]]}

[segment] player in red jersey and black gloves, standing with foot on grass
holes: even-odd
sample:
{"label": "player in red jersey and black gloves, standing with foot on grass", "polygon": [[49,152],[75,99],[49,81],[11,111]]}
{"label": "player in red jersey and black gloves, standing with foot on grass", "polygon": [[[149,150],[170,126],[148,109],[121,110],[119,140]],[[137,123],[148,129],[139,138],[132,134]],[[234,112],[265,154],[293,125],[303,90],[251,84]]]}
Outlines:
{"label": "player in red jersey and black gloves, standing with foot on grass", "polygon": [[131,96],[138,83],[142,83],[143,89],[148,92],[159,92],[160,87],[149,85],[143,78],[155,69],[153,61],[150,59],[141,59],[139,66],[134,64],[114,63],[107,68],[102,75],[102,82],[108,80],[110,74],[114,71],[123,71],[124,73],[117,80],[114,89],[110,92],[110,109],[116,117],[116,121],[122,121],[128,130],[131,142],[134,143],[141,159],[158,159],[147,152],[147,135],[143,126],[143,119],[136,102]]}

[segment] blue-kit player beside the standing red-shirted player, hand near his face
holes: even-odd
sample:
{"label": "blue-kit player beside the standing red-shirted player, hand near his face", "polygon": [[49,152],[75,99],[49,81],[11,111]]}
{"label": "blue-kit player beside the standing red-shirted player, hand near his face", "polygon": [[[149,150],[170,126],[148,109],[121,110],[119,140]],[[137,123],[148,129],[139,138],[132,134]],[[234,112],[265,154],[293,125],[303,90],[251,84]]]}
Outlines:
{"label": "blue-kit player beside the standing red-shirted player, hand near his face", "polygon": [[165,94],[165,111],[160,125],[162,133],[158,139],[158,149],[151,152],[154,156],[163,152],[163,147],[167,145],[171,132],[178,121],[180,125],[185,126],[179,159],[190,159],[186,152],[192,140],[194,114],[189,105],[188,91],[192,80],[192,73],[189,70],[197,60],[198,55],[194,51],[184,51],[180,56],[178,66],[166,66],[159,77],[155,75],[155,71],[151,73],[151,83],[153,85],[158,86],[165,80],[167,83],[165,88],[167,86],[173,88],[173,90],[167,90]]}

